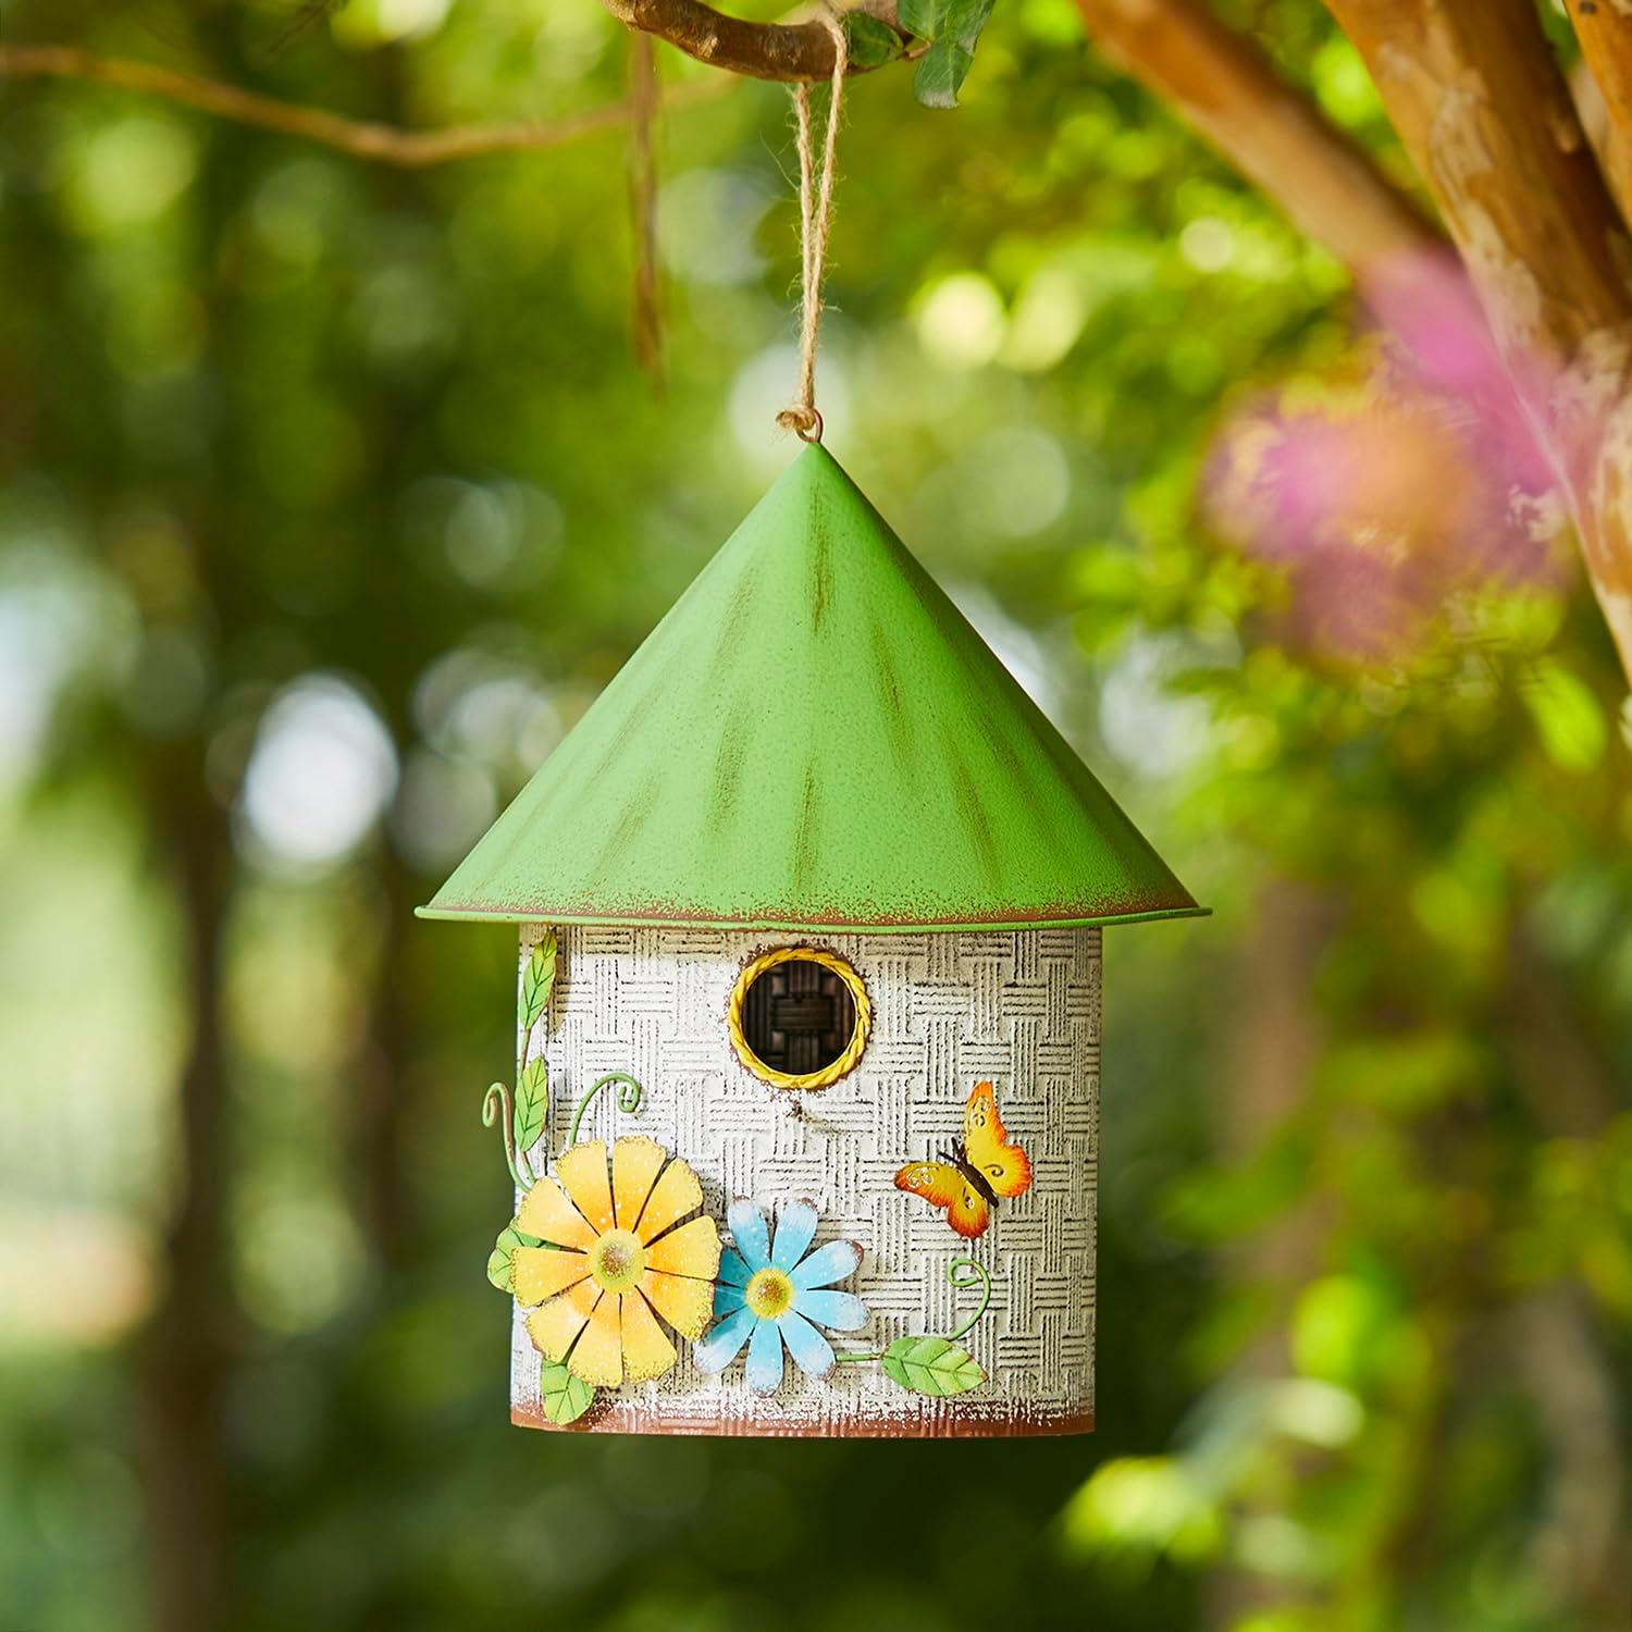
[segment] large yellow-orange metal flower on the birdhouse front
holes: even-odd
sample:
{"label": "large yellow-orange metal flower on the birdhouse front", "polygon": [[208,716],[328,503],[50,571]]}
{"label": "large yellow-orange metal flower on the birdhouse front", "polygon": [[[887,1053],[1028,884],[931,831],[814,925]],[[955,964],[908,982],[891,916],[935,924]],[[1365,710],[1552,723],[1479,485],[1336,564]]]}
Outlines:
{"label": "large yellow-orange metal flower on the birdhouse front", "polygon": [[[664,1165],[667,1164],[667,1165]],[[674,1366],[661,1315],[684,1338],[708,1324],[720,1231],[681,1221],[703,1200],[697,1175],[654,1139],[574,1144],[526,1195],[516,1226],[547,1247],[517,1247],[512,1284],[545,1359],[615,1389]],[[560,1248],[560,1250],[552,1250]]]}

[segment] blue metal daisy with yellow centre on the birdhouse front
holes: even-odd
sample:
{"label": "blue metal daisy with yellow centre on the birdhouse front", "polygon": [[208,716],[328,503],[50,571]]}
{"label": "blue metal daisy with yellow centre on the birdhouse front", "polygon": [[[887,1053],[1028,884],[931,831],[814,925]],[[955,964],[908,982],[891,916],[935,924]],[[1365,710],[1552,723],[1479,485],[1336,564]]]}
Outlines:
{"label": "blue metal daisy with yellow centre on the birdhouse front", "polygon": [[747,1345],[747,1386],[774,1394],[782,1382],[782,1350],[808,1377],[826,1377],[836,1364],[832,1345],[818,1332],[858,1332],[867,1309],[854,1293],[837,1293],[836,1281],[855,1273],[862,1248],[854,1240],[831,1240],[814,1252],[816,1208],[787,1203],[777,1217],[775,1244],[764,1214],[741,1196],[726,1213],[731,1242],[720,1255],[715,1288],[715,1328],[695,1348],[702,1371],[720,1373]]}

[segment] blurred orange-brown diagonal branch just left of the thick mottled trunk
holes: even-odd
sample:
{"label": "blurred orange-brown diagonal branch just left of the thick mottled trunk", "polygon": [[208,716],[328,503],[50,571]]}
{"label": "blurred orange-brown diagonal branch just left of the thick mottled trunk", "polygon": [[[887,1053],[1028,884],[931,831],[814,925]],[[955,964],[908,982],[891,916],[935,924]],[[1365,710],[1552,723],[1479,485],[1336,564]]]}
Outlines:
{"label": "blurred orange-brown diagonal branch just left of the thick mottled trunk", "polygon": [[1444,240],[1369,155],[1198,0],[1077,0],[1095,44],[1355,271]]}

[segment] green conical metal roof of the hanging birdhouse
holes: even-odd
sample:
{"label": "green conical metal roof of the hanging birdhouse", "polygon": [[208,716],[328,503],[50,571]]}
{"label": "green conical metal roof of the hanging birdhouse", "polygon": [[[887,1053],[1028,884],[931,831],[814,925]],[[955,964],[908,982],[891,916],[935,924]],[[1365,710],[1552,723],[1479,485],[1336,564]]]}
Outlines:
{"label": "green conical metal roof of the hanging birdhouse", "polygon": [[423,909],[876,932],[1200,911],[819,446]]}

